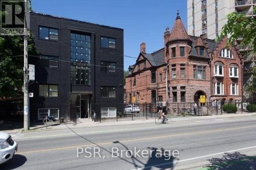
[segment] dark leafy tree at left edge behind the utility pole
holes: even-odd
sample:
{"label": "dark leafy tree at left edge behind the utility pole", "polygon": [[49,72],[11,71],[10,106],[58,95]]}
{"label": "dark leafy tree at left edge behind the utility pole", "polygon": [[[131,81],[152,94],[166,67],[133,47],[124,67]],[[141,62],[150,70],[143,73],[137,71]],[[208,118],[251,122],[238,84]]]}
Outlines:
{"label": "dark leafy tree at left edge behind the utility pole", "polygon": [[[28,54],[39,55],[32,34],[28,40]],[[0,37],[0,98],[23,95],[24,37]]]}

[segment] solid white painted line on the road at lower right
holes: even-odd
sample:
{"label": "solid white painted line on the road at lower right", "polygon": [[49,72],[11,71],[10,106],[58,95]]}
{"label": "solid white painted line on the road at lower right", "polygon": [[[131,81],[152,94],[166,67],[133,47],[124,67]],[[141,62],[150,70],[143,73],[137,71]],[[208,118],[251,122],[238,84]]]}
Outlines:
{"label": "solid white painted line on the road at lower right", "polygon": [[152,165],[152,166],[144,166],[144,167],[140,167],[140,168],[136,168],[136,169],[132,169],[132,170],[142,170],[144,168],[150,168],[150,167],[154,167],[154,166],[164,166],[164,165],[168,165],[168,164],[176,164],[176,163],[179,163],[179,162],[185,162],[185,161],[190,161],[190,160],[206,158],[206,157],[210,157],[210,156],[221,155],[221,154],[224,154],[224,153],[248,150],[248,149],[253,149],[253,148],[256,148],[256,146],[248,147],[248,148],[241,148],[241,149],[236,149],[236,150],[231,150],[231,151],[225,151],[225,152],[219,152],[219,153],[209,154],[209,155],[204,155],[204,156],[198,156],[198,157],[195,157],[195,158],[182,159],[182,160],[177,160],[177,161],[168,162],[168,163],[161,163],[161,164],[156,164],[156,165]]}

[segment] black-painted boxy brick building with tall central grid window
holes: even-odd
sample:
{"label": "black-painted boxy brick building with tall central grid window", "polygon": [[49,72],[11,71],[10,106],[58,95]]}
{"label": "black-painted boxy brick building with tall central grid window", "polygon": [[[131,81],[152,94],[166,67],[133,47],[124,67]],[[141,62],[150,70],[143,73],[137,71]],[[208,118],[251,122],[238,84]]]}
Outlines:
{"label": "black-painted boxy brick building with tall central grid window", "polygon": [[80,118],[92,110],[108,117],[123,111],[123,29],[31,12],[30,30],[41,53],[29,56],[30,104],[54,106],[38,107],[38,120],[59,118],[70,105]]}

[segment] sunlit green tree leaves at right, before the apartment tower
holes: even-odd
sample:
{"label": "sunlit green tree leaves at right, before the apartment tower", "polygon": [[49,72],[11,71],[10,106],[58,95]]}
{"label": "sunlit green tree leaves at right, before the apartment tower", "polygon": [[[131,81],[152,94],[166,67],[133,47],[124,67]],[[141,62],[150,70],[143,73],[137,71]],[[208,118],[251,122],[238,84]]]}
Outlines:
{"label": "sunlit green tree leaves at right, before the apartment tower", "polygon": [[[253,14],[256,13],[256,6],[253,7]],[[236,43],[239,37],[243,37],[241,45],[248,46],[250,51],[248,54],[256,54],[256,19],[251,17],[246,17],[244,14],[239,14],[233,12],[227,15],[227,23],[222,28],[220,35],[216,38],[216,41],[228,36],[227,46]],[[247,55],[248,55],[247,54]],[[253,68],[253,80],[246,89],[248,93],[256,93],[256,68]]]}

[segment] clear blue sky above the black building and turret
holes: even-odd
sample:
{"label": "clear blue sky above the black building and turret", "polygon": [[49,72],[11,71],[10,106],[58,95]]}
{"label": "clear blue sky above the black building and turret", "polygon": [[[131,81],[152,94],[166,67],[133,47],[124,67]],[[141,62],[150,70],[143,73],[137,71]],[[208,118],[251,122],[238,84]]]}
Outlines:
{"label": "clear blue sky above the black building and turret", "polygon": [[[177,10],[187,28],[187,0],[32,0],[35,12],[67,17],[124,30],[124,55],[138,57],[164,46],[166,27],[172,29]],[[124,70],[136,59],[124,57]]]}

